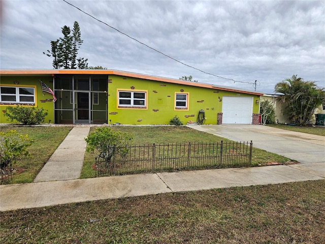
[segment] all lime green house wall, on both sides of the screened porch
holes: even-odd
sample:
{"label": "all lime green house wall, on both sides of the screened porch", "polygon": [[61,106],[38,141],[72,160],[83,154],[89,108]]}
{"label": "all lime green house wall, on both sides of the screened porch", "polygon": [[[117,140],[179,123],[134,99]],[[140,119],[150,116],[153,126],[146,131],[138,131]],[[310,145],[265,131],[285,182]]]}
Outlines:
{"label": "all lime green house wall, on both sides of the screened porch", "polygon": [[[39,79],[46,83],[53,90],[53,78],[51,76],[2,76],[1,85],[15,85],[15,81],[19,84],[16,86],[33,85],[36,86],[36,105],[48,110],[48,116],[45,123],[51,120],[54,123],[54,105],[52,95],[42,93]],[[117,90],[142,90],[147,92],[146,109],[118,108],[117,107]],[[187,93],[189,96],[188,110],[175,110],[175,93]],[[177,115],[183,124],[189,120],[196,121],[198,113],[201,109],[205,111],[205,124],[217,124],[217,113],[222,112],[223,96],[243,96],[253,97],[253,113],[259,113],[259,96],[242,94],[236,92],[227,92],[223,90],[203,88],[197,86],[173,84],[168,82],[152,81],[132,77],[123,77],[118,75],[110,75],[108,83],[108,123],[121,123],[127,125],[159,125],[169,124],[169,120]],[[70,104],[70,92],[67,93],[67,100],[64,100],[64,106],[72,106]],[[59,98],[58,98],[59,100]],[[68,101],[69,100],[69,101]],[[219,101],[221,100],[221,101]],[[42,102],[43,101],[43,102]],[[100,94],[100,105],[106,104],[106,95]],[[3,115],[8,105],[0,105],[0,123],[8,123]]]}

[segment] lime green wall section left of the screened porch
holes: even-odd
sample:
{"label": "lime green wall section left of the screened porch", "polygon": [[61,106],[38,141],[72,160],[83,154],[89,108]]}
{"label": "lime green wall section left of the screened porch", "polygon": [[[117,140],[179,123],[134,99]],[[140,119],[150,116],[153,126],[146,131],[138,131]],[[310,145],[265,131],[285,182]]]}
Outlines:
{"label": "lime green wall section left of the screened porch", "polygon": [[[53,90],[53,78],[51,76],[2,76],[1,77],[1,86],[36,86],[36,106],[43,107],[48,110],[48,115],[45,117],[44,123],[54,123],[54,105],[52,101],[46,101],[46,99],[52,99],[52,95],[49,93],[42,93],[42,88],[39,82],[41,79],[45,84],[47,84]],[[15,81],[19,84],[15,84]],[[16,105],[0,105],[0,123],[10,123],[7,120],[7,117],[4,116],[4,111],[7,106],[16,106]]]}

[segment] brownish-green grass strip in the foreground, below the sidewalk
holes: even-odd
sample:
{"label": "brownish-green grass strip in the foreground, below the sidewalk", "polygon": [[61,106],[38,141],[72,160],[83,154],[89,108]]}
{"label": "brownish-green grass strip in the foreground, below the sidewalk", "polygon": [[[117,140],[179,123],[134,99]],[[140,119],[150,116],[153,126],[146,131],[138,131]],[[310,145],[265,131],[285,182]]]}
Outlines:
{"label": "brownish-green grass strip in the foreground, below the sidewalk", "polygon": [[325,180],[1,212],[0,243],[325,243]]}

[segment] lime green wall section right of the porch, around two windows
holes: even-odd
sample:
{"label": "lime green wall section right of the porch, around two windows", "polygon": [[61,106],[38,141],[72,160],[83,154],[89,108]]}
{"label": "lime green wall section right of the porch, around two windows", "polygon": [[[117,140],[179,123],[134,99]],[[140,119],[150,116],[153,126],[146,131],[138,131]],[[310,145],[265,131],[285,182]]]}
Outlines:
{"label": "lime green wall section right of the porch, around two windows", "polygon": [[[227,92],[223,90],[172,84],[167,82],[150,81],[131,77],[110,75],[108,84],[108,121],[128,125],[159,125],[169,124],[169,120],[177,115],[183,124],[189,120],[196,121],[201,109],[205,111],[205,124],[217,124],[217,113],[221,112],[223,96],[254,97],[249,94]],[[117,89],[147,90],[147,109],[121,109],[117,107]],[[188,111],[175,110],[175,92],[189,94]],[[258,113],[259,106],[253,103],[253,113]]]}

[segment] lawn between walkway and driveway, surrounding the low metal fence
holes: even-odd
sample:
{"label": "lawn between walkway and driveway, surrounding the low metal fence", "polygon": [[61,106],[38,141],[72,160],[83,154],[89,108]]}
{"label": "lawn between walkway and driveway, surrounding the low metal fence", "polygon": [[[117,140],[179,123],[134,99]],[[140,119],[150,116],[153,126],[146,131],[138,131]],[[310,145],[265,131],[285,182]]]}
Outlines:
{"label": "lawn between walkway and driveway, surrounding the low metal fence", "polygon": [[[129,132],[134,135],[133,144],[168,144],[168,143],[186,143],[186,142],[220,142],[230,141],[206,132],[197,131],[185,126],[117,126],[114,130]],[[95,128],[91,128],[94,131]],[[254,142],[253,142],[254,143]],[[96,172],[92,169],[95,155],[85,154],[84,164],[81,172],[81,178],[95,177]],[[270,153],[266,150],[253,148],[252,166],[266,165],[272,162],[285,163],[288,158]]]}

